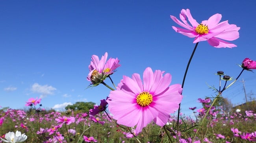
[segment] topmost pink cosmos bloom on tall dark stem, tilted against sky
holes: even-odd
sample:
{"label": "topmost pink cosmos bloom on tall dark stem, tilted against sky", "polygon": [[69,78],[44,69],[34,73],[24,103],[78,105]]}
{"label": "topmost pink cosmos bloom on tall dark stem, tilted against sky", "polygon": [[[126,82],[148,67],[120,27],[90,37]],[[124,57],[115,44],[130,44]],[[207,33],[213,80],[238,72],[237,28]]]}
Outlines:
{"label": "topmost pink cosmos bloom on tall dark stem, tilted against sky", "polygon": [[[180,19],[182,22],[175,16],[171,15],[171,19],[176,22],[176,24],[186,28],[182,29],[173,26],[173,29],[180,34],[188,36],[189,38],[195,37],[193,43],[207,41],[211,46],[216,48],[237,47],[235,44],[226,42],[224,40],[232,41],[239,38],[238,30],[240,27],[237,27],[234,24],[228,24],[228,20],[219,23],[221,17],[221,14],[217,13],[211,16],[208,20],[204,20],[199,24],[195,19],[193,19],[189,9],[181,10]],[[187,20],[191,25],[189,25]]]}

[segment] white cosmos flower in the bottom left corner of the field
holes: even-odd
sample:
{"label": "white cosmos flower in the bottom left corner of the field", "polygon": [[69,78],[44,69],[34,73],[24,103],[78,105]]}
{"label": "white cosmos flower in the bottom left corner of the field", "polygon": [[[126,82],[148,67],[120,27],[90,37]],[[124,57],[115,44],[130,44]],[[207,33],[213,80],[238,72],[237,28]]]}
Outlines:
{"label": "white cosmos flower in the bottom left corner of the field", "polygon": [[15,134],[14,132],[6,133],[5,138],[6,140],[1,138],[5,143],[19,143],[25,141],[28,137],[17,130]]}

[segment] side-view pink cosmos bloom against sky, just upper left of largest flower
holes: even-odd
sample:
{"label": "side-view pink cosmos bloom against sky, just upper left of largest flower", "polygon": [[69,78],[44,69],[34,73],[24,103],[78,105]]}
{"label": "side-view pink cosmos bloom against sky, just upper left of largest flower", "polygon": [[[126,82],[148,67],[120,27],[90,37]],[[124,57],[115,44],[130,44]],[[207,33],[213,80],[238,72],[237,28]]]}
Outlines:
{"label": "side-view pink cosmos bloom against sky, just upper left of largest flower", "polygon": [[87,76],[88,81],[91,81],[93,84],[100,83],[102,82],[101,79],[113,74],[115,70],[121,66],[117,58],[109,58],[108,61],[107,58],[107,52],[105,52],[100,60],[96,55],[91,57],[92,61],[89,65],[89,74]]}

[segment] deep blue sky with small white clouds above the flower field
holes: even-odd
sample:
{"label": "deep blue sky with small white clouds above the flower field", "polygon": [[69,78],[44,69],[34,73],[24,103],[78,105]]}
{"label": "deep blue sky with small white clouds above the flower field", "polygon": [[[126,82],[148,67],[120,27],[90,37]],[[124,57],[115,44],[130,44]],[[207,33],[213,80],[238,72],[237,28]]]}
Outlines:
{"label": "deep blue sky with small white clouds above the flower field", "polygon": [[[256,18],[253,1],[88,1],[88,0],[8,0],[0,2],[0,105],[24,109],[29,98],[42,98],[46,109],[61,110],[77,101],[97,104],[106,98],[104,85],[86,89],[91,56],[119,58],[121,67],[111,78],[117,85],[123,75],[142,75],[146,67],[172,74],[171,84],[182,83],[195,44],[175,31],[170,15],[179,17],[190,9],[197,22],[215,13],[222,21],[241,27],[237,47],[214,48],[199,42],[184,85],[182,112],[200,107],[198,98],[214,96],[209,85],[218,87],[224,71],[236,78],[244,58],[256,60]],[[245,102],[256,94],[256,74],[245,71],[223,93],[232,103]],[[108,83],[108,81],[106,81]],[[224,85],[224,82],[222,83]],[[255,97],[252,96],[252,97]]]}

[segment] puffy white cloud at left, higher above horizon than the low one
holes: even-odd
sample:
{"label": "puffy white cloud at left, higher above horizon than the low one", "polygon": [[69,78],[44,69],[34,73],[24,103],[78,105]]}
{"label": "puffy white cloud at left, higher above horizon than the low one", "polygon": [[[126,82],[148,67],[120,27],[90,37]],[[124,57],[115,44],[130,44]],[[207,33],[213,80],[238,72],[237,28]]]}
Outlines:
{"label": "puffy white cloud at left, higher above horizon than the low one", "polygon": [[49,86],[49,85],[39,85],[38,83],[34,83],[30,89],[34,93],[39,93],[40,98],[44,98],[47,95],[54,94],[56,88]]}

